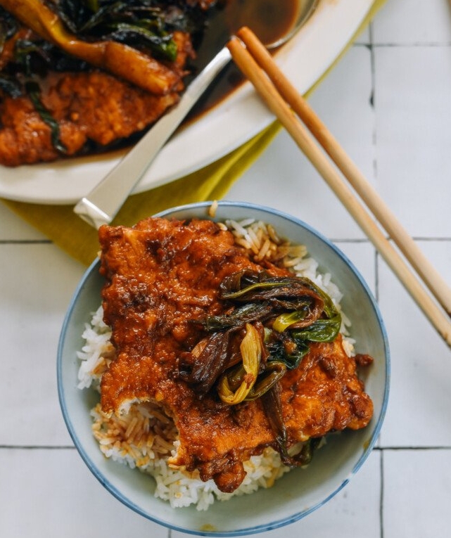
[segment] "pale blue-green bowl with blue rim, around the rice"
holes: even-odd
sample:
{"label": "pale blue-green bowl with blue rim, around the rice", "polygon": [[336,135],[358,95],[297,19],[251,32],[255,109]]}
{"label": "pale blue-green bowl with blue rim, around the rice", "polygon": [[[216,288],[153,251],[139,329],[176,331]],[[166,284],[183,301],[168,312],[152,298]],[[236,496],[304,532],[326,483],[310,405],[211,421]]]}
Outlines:
{"label": "pale blue-green bowl with blue rim, around the rice", "polygon": [[[210,203],[163,212],[175,218],[207,218]],[[176,530],[203,535],[251,534],[286,525],[307,515],[336,494],[362,465],[371,451],[386,411],[389,385],[389,352],[379,309],[367,285],[349,260],[334,245],[305,223],[280,212],[243,203],[220,203],[215,219],[253,217],[272,224],[280,236],[307,245],[319,262],[320,272],[331,272],[332,281],[345,292],[341,305],[352,321],[356,351],[371,354],[374,364],[364,371],[366,390],[374,402],[374,417],[367,428],[329,436],[310,466],[294,469],[274,487],[251,495],[216,502],[208,511],[170,508],[153,497],[153,478],[104,458],[91,435],[89,411],[98,397],[92,390],[77,389],[76,351],[91,313],[100,305],[103,285],[99,262],[87,270],[72,298],[58,347],[58,391],[72,440],[96,478],[124,504],[146,518]]]}

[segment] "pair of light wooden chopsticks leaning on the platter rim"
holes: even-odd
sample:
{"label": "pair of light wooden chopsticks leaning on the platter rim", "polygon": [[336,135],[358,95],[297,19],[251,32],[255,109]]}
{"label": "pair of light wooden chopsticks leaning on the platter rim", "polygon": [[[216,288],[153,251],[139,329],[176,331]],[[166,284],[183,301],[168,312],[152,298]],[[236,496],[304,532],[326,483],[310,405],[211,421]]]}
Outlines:
{"label": "pair of light wooden chopsticks leaning on the platter rim", "polygon": [[[247,27],[243,27],[227,46],[243,75],[252,82],[268,108],[279,118],[299,148],[380,252],[390,269],[398,276],[439,335],[451,347],[451,289],[447,283],[426,259],[307,101],[279,70],[255,34]],[[343,178],[348,180],[355,193],[371,210],[376,221],[385,229],[411,267],[386,238]],[[411,268],[417,271],[417,275]],[[436,300],[426,291],[421,281]]]}

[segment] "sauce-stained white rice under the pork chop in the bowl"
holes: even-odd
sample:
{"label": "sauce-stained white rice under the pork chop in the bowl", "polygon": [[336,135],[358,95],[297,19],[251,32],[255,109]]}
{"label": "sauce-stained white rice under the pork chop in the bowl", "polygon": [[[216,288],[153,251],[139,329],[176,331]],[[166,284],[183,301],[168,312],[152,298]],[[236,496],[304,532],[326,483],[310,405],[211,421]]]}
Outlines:
{"label": "sauce-stained white rice under the pork chop in the bowl", "polygon": [[[225,224],[234,233],[236,243],[253,252],[255,261],[265,257],[269,260],[283,258],[285,267],[290,267],[298,276],[310,278],[331,297],[341,312],[345,351],[352,355],[354,341],[348,335],[350,321],[341,311],[342,294],[331,281],[331,274],[318,273],[318,264],[307,255],[307,249],[303,245],[284,244],[271,226],[253,219]],[[80,359],[78,388],[99,390],[101,376],[114,357],[110,335],[110,328],[103,323],[103,309],[99,307],[84,328],[85,344],[77,352]],[[91,416],[93,435],[103,454],[153,476],[155,497],[169,501],[174,508],[193,505],[200,511],[206,510],[216,500],[226,501],[236,495],[253,493],[260,487],[271,487],[289,470],[281,463],[277,451],[267,448],[260,456],[252,456],[244,463],[246,478],[238,489],[226,494],[220,492],[213,480],[203,482],[196,472],[187,473],[167,465],[168,457],[177,450],[177,428],[159,407],[136,402],[127,414],[117,417],[103,414],[97,404]]]}

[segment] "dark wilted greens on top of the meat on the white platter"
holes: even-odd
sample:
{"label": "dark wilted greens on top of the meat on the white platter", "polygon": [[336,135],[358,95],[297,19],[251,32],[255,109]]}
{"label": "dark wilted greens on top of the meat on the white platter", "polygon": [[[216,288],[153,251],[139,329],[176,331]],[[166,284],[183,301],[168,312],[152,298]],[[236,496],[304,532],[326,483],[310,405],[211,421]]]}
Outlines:
{"label": "dark wilted greens on top of the meat on the white platter", "polygon": [[[42,120],[49,125],[53,146],[60,153],[65,153],[65,148],[60,141],[58,122],[42,103],[39,89],[42,78],[52,71],[88,70],[96,63],[88,63],[89,59],[78,56],[75,49],[65,49],[56,36],[61,39],[72,37],[72,44],[75,40],[80,40],[82,45],[90,43],[97,47],[99,42],[116,41],[123,49],[136,49],[136,53],[147,58],[151,64],[150,71],[141,75],[144,81],[142,87],[148,91],[155,89],[157,94],[158,91],[164,94],[167,90],[165,84],[170,87],[174,80],[178,80],[179,75],[174,74],[172,79],[169,75],[165,78],[164,74],[160,77],[154,73],[155,76],[152,77],[151,68],[153,65],[159,65],[153,58],[163,60],[163,63],[173,62],[177,56],[173,32],[201,32],[205,24],[205,12],[201,11],[201,8],[190,7],[188,3],[178,0],[170,3],[155,0],[46,0],[42,1],[42,4],[37,3],[36,9],[40,6],[42,11],[39,16],[27,11],[27,6],[28,2],[25,0],[20,4],[13,1],[6,3],[12,13],[15,13],[17,8],[17,19],[0,6],[0,54],[8,40],[11,39],[10,43],[13,44],[13,47],[10,45],[4,62],[0,63],[0,99],[4,96],[28,96]],[[28,7],[35,6],[36,4],[30,4]],[[54,18],[53,12],[58,15],[58,19]],[[19,34],[23,24],[27,25],[27,20],[30,21],[28,26],[33,31]],[[117,63],[126,65],[124,61],[117,60]],[[158,71],[157,68],[153,69]],[[123,67],[119,68],[118,73],[113,68],[112,70],[114,74],[127,79]],[[141,70],[130,69],[128,72],[139,73]],[[139,75],[136,76],[139,79]],[[139,85],[139,80],[133,78],[129,79],[129,82]]]}

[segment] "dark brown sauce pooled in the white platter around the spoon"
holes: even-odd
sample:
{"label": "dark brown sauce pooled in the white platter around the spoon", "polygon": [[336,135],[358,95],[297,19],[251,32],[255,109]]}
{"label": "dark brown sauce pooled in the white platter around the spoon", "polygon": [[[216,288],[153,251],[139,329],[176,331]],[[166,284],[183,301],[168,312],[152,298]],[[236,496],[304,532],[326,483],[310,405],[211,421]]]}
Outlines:
{"label": "dark brown sauce pooled in the white platter around the spoon", "polygon": [[[207,27],[196,42],[196,60],[189,64],[193,73],[200,72],[208,61],[220,51],[230,36],[242,26],[248,26],[264,44],[271,44],[284,37],[307,11],[305,0],[224,0],[211,10]],[[190,78],[186,79],[189,83]],[[227,66],[215,79],[189,115],[189,122],[220,103],[243,82],[239,70]]]}

